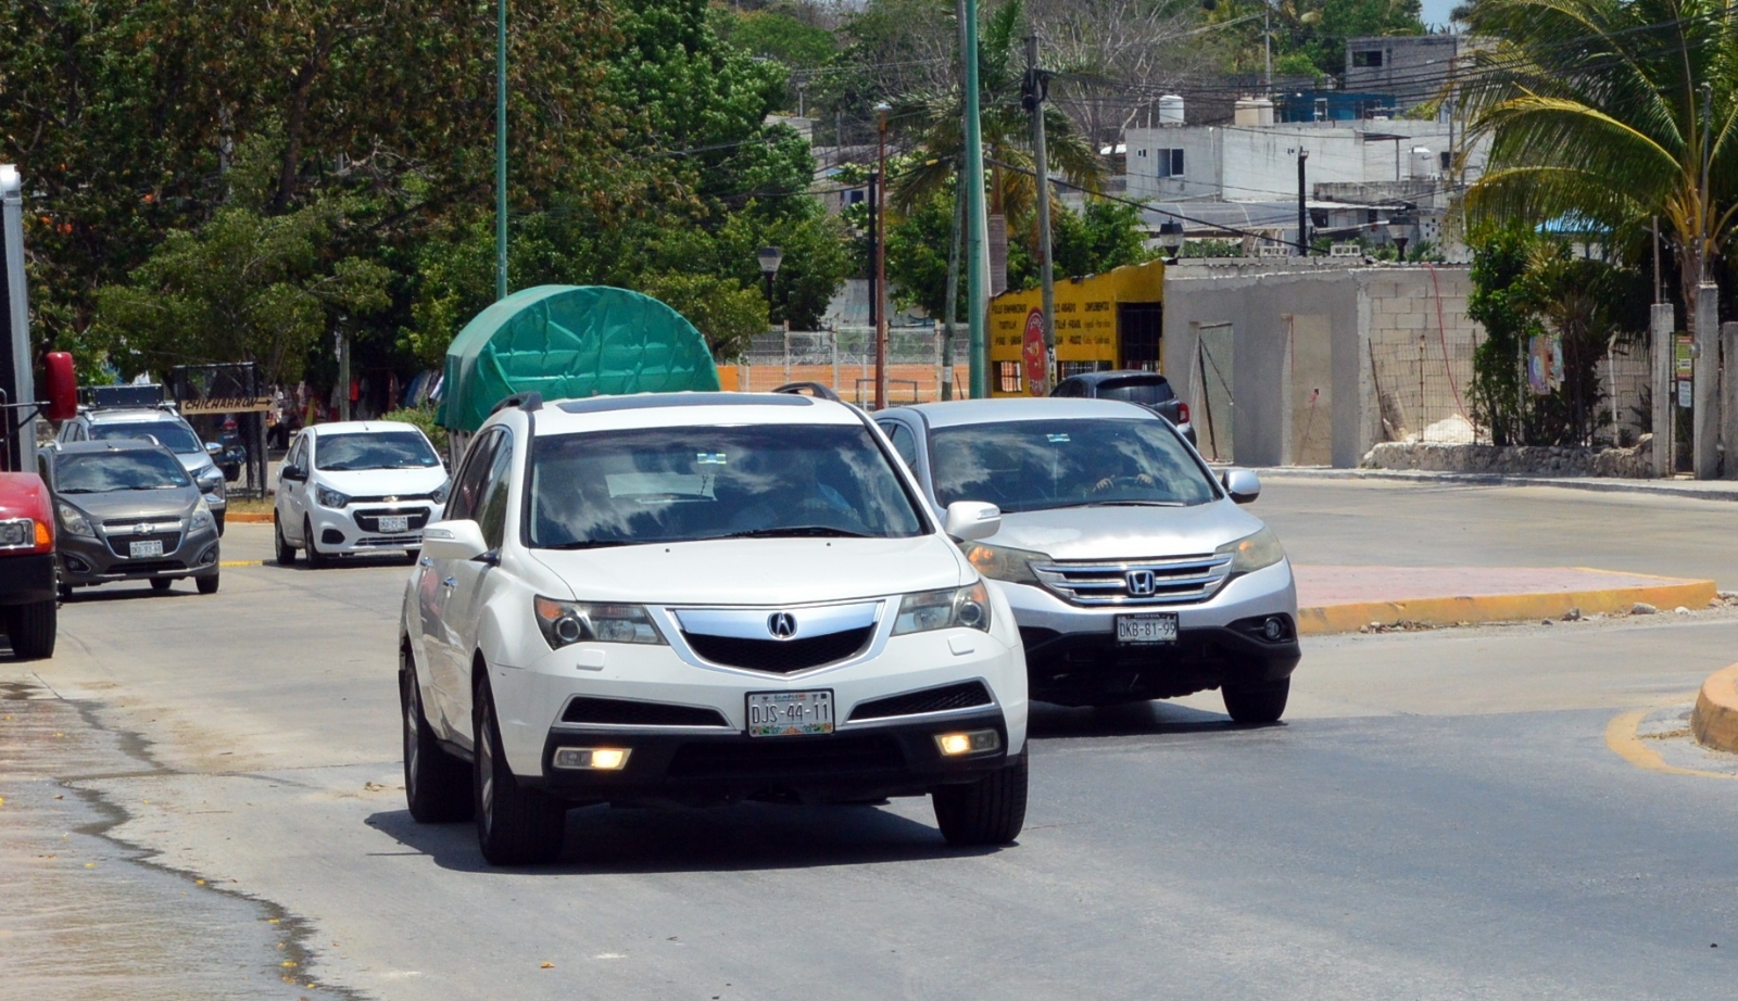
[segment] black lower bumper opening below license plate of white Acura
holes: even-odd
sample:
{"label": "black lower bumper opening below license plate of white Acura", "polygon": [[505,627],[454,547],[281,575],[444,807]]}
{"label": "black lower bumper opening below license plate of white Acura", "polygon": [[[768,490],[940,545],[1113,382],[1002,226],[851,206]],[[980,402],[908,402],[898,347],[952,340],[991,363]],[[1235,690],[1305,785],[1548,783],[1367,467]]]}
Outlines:
{"label": "black lower bumper opening below license plate of white Acura", "polygon": [[683,744],[671,779],[780,780],[900,772],[905,756],[888,735],[763,737],[744,742]]}

